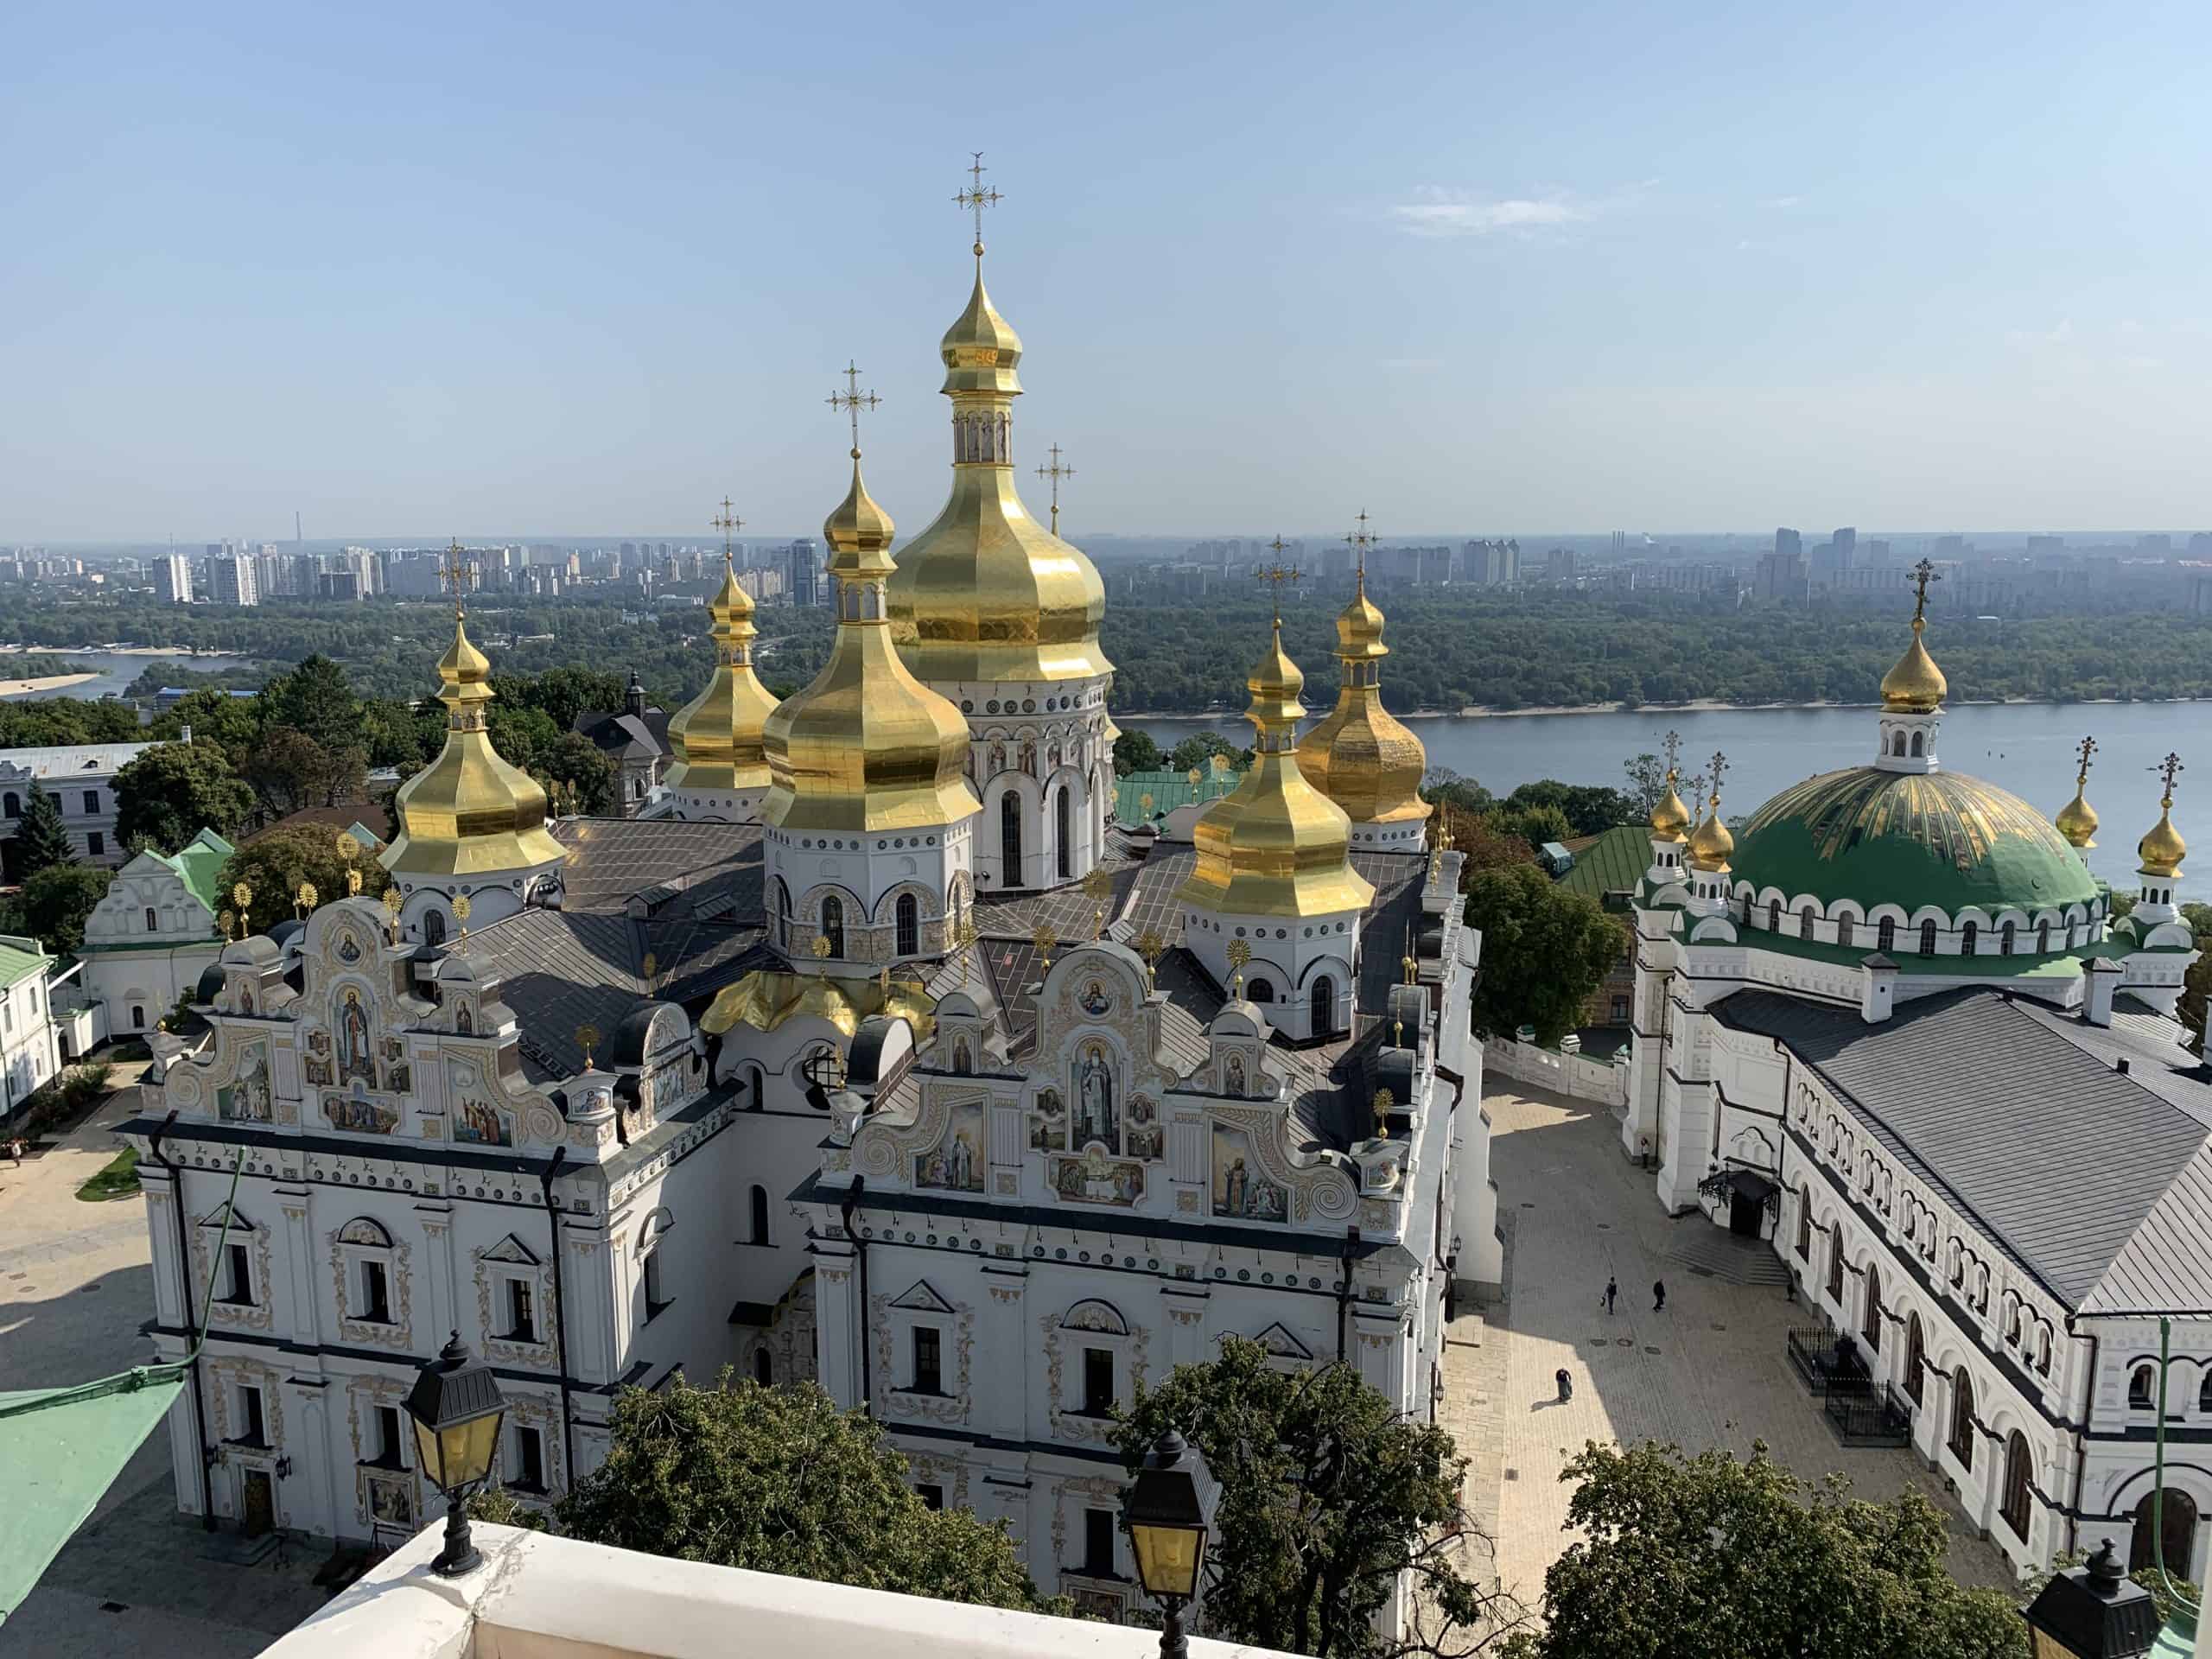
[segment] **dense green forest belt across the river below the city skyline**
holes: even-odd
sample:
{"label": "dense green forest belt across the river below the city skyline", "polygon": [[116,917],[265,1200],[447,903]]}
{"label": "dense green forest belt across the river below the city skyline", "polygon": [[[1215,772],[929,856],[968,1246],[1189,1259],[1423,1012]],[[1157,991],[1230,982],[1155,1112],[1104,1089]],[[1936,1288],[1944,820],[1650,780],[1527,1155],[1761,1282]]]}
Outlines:
{"label": "dense green forest belt across the river below the city skyline", "polygon": [[[1672,593],[1504,593],[1391,588],[1383,697],[1398,712],[1460,708],[1575,708],[1588,703],[1871,703],[1905,646],[1893,613],[1745,608],[1714,613]],[[1336,692],[1336,593],[1285,597],[1283,646],[1305,668],[1307,701]],[[471,633],[507,672],[588,664],[635,668],[664,708],[706,686],[712,653],[697,604],[639,611],[617,599],[509,599],[482,595]],[[1115,664],[1113,708],[1148,714],[1241,710],[1245,672],[1267,639],[1270,608],[1232,588],[1203,604],[1117,595],[1102,644]],[[761,679],[803,686],[832,635],[827,611],[754,613]],[[31,646],[135,639],[177,650],[234,650],[296,664],[327,655],[369,697],[422,697],[445,650],[451,613],[429,599],[259,608],[170,606],[146,599],[0,604],[0,637]],[[1929,611],[1929,648],[1951,701],[2075,701],[2212,697],[2212,617],[2037,615],[1964,617]],[[215,659],[223,681],[250,679]],[[164,668],[168,684],[190,670]],[[201,681],[190,681],[201,684]]]}

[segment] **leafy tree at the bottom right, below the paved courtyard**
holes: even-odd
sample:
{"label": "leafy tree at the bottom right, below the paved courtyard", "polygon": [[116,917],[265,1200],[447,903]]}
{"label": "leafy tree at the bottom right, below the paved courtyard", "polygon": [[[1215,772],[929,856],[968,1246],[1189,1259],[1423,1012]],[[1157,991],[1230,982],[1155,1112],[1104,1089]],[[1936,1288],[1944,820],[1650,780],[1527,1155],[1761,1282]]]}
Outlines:
{"label": "leafy tree at the bottom right, below the paved courtyard", "polygon": [[1588,1442],[1562,1480],[1579,1537],[1511,1659],[2026,1659],[2015,1601],[1951,1577],[1942,1513],[1911,1486],[1874,1504],[1843,1475],[1807,1489],[1763,1444],[1657,1442]]}

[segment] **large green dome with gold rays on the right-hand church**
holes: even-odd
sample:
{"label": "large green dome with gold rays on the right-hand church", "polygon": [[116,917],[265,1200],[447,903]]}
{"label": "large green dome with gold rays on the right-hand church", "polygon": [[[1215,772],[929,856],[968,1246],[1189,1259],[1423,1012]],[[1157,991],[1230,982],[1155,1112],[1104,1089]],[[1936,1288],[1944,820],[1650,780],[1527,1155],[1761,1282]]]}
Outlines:
{"label": "large green dome with gold rays on the right-hand church", "polygon": [[1858,765],[1783,790],[1736,841],[1734,874],[1785,900],[1969,905],[2031,916],[2097,896],[2079,854],[2017,794],[1958,772]]}

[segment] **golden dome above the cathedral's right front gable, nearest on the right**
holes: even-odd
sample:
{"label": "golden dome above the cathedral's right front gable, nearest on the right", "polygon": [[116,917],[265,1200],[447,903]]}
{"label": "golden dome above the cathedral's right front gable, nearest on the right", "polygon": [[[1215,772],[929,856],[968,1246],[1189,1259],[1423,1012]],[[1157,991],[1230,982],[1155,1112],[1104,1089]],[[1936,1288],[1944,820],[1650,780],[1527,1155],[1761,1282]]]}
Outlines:
{"label": "golden dome above the cathedral's right front gable, nearest on the right", "polygon": [[1199,856],[1177,902],[1221,916],[1367,909],[1374,887],[1352,869],[1352,821],[1298,765],[1305,677],[1283,650],[1281,615],[1245,686],[1252,692],[1245,719],[1256,730],[1252,768],[1192,830]]}

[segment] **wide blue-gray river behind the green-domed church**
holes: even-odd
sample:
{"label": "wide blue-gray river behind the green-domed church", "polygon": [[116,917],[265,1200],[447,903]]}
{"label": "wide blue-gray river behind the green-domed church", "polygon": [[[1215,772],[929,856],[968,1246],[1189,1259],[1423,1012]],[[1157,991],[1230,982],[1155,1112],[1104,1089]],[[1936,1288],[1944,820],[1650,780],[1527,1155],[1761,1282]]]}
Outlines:
{"label": "wide blue-gray river behind the green-domed church", "polygon": [[[1316,719],[1327,703],[1316,697]],[[2088,799],[2104,821],[2090,867],[2119,889],[2137,885],[2135,843],[2159,818],[2159,781],[2168,750],[2201,768],[2183,774],[2174,825],[2197,849],[2181,880],[2183,898],[2212,898],[2212,750],[2199,737],[2205,703],[1969,703],[1944,712],[1942,763],[1986,779],[2020,799],[2057,812],[2073,794],[2073,750],[2097,739]],[[1252,728],[1241,719],[1124,719],[1161,748],[1197,730],[1217,730],[1241,745]],[[1874,759],[1871,708],[1637,710],[1619,714],[1442,714],[1407,721],[1429,750],[1431,768],[1451,768],[1493,794],[1535,779],[1621,785],[1621,761],[1657,752],[1668,730],[1681,732],[1683,772],[1728,754],[1723,816],[1743,816],[1772,794],[1840,765]],[[2194,750],[2194,752],[2192,752]],[[2201,874],[2199,874],[2201,872]]]}

